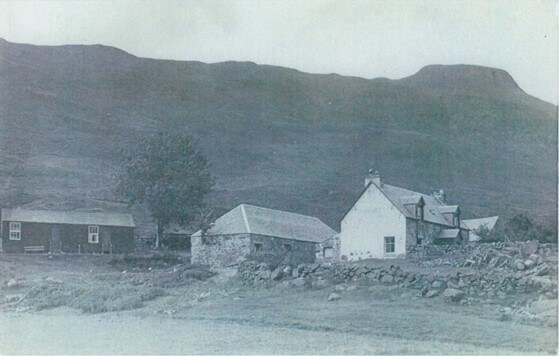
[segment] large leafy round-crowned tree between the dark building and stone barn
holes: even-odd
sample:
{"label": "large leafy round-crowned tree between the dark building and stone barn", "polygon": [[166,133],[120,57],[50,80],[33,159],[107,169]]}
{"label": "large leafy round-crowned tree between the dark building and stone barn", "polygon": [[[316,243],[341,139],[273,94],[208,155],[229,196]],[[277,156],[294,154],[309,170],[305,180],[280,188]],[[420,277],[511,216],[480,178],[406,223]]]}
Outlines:
{"label": "large leafy round-crowned tree between the dark building and stone barn", "polygon": [[158,133],[122,153],[117,193],[130,204],[145,203],[157,222],[156,247],[170,223],[186,225],[204,208],[213,184],[208,162],[194,137]]}

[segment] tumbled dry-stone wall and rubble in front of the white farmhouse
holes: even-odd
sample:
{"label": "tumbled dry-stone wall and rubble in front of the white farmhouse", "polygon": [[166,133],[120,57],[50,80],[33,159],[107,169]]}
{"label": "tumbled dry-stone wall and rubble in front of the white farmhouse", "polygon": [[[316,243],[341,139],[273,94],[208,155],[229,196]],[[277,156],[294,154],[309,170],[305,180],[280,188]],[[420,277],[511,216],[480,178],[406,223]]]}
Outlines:
{"label": "tumbled dry-stone wall and rubble in front of the white farmhouse", "polygon": [[[418,263],[423,267],[422,262],[435,260],[438,265],[454,266],[462,272],[433,275],[428,271],[405,271],[396,263],[379,267],[367,265],[366,261],[301,264],[293,268],[272,268],[266,263],[244,261],[238,267],[238,275],[251,285],[281,283],[282,287],[306,288],[335,285],[334,293],[338,294],[355,290],[357,284],[382,284],[415,289],[418,295],[427,298],[440,295],[446,301],[460,303],[492,299],[504,302],[509,295],[520,294],[557,295],[557,245],[527,242],[425,246],[421,254]],[[419,250],[412,253],[412,258],[419,256]],[[454,259],[449,261],[450,257]]]}

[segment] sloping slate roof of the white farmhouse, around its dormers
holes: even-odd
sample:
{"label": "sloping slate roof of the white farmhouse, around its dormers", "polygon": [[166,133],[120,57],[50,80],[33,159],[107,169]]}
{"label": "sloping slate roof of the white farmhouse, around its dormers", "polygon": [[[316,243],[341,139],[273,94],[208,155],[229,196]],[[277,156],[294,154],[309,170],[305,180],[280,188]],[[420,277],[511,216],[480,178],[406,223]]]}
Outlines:
{"label": "sloping slate roof of the white farmhouse, around its dormers", "polygon": [[[374,183],[371,182],[369,184]],[[400,210],[402,214],[404,214],[404,216],[411,219],[417,219],[413,206],[405,204],[408,204],[408,202],[414,200],[419,201],[420,198],[423,198],[423,201],[425,202],[425,206],[423,207],[423,219],[425,221],[445,226],[454,226],[452,220],[447,219],[447,217],[445,217],[441,212],[441,210],[447,210],[449,206],[443,204],[434,196],[421,194],[388,184],[383,184],[381,187],[378,188],[384,193],[384,195],[386,195],[386,197],[394,204],[394,206],[396,206],[396,208],[398,208],[398,210]],[[453,205],[452,207],[454,206],[455,205]]]}

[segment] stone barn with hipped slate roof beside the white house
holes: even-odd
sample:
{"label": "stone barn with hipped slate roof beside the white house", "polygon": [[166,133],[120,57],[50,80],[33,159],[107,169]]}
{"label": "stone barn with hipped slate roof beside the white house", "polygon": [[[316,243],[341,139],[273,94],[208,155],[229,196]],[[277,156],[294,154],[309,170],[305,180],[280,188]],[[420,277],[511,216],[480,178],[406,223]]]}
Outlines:
{"label": "stone barn with hipped slate roof beside the white house", "polygon": [[336,235],[315,217],[241,204],[206,232],[192,235],[192,263],[211,267],[246,259],[312,263],[319,244]]}

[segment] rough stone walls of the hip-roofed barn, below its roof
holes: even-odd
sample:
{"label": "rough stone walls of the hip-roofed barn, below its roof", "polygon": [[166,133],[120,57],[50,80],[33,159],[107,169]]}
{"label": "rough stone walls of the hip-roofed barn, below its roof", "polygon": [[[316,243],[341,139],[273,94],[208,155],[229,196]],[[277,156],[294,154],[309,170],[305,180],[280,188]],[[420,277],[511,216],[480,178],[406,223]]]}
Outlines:
{"label": "rough stone walls of the hip-roofed barn, below its roof", "polygon": [[256,234],[192,236],[191,261],[193,264],[224,267],[244,260],[275,264],[312,263],[317,244]]}

